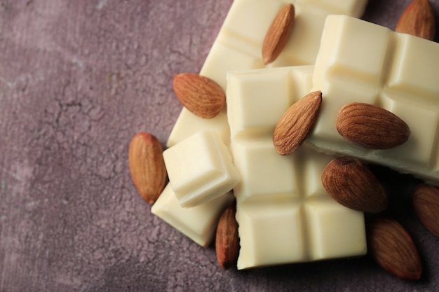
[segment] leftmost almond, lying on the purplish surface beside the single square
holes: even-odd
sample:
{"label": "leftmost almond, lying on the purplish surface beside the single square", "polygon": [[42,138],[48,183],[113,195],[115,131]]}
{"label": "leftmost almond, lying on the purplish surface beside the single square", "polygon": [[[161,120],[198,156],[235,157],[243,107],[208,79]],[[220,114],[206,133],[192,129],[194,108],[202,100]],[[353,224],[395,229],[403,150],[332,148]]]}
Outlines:
{"label": "leftmost almond, lying on the purplish surface beside the single square", "polygon": [[149,204],[154,203],[166,183],[166,166],[163,147],[149,133],[136,134],[128,150],[131,178],[140,196]]}

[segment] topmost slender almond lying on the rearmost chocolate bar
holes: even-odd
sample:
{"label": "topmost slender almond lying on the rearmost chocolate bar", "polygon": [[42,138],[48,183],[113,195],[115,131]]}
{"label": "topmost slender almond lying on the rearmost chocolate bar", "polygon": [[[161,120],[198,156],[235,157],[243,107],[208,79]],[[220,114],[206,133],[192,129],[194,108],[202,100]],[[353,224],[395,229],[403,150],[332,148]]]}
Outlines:
{"label": "topmost slender almond lying on the rearmost chocolate bar", "polygon": [[287,44],[288,37],[295,22],[295,6],[287,4],[278,12],[273,22],[266,32],[264,43],[262,44],[262,59],[264,64],[269,64],[276,60]]}

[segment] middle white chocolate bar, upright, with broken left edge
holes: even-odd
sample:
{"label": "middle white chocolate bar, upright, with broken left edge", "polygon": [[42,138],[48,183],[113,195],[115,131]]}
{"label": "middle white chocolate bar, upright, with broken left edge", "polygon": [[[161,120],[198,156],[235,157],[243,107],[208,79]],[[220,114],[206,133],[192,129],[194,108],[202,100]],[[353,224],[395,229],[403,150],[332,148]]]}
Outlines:
{"label": "middle white chocolate bar, upright, with broken left edge", "polygon": [[343,207],[320,176],[332,156],[303,144],[291,155],[273,146],[288,107],[311,90],[313,67],[233,71],[227,76],[234,188],[241,249],[238,269],[366,253],[362,212]]}

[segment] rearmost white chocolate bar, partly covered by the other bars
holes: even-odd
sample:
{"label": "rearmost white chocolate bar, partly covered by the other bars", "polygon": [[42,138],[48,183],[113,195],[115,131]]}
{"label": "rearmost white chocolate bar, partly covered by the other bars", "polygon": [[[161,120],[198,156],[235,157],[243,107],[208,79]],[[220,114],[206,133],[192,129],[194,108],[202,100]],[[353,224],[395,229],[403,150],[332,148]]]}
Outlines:
{"label": "rearmost white chocolate bar, partly covered by the other bars", "polygon": [[[283,52],[269,67],[314,64],[325,17],[329,14],[360,17],[367,0],[235,0],[200,75],[214,80],[226,90],[227,71],[264,68],[262,43],[273,18],[285,4],[295,6],[295,26]],[[224,116],[209,121],[183,108],[167,146],[211,127],[212,123],[216,123],[212,130],[221,137],[229,137],[229,125]],[[228,140],[226,138],[224,143],[228,144]]]}

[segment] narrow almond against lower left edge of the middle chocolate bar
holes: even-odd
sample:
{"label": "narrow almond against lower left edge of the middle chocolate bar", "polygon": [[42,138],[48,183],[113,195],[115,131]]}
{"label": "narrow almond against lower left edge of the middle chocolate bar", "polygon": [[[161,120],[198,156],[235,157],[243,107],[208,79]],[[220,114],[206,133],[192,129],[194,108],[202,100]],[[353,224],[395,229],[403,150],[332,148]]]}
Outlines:
{"label": "narrow almond against lower left edge of the middle chocolate bar", "polygon": [[215,250],[218,263],[224,270],[232,267],[238,259],[239,237],[235,216],[236,202],[223,211],[217,226]]}

